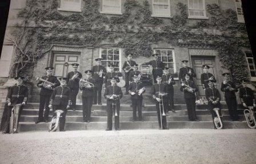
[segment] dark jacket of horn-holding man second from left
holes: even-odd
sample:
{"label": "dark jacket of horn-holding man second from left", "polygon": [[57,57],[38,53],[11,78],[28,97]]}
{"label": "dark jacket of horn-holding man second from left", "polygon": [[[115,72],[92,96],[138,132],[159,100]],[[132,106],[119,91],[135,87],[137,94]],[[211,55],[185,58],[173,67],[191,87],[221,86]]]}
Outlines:
{"label": "dark jacket of horn-holding man second from left", "polygon": [[[50,75],[49,77],[47,75],[43,76],[42,79],[45,79],[46,81],[49,81],[51,83],[54,83],[54,85],[51,85],[51,88],[54,89],[55,87],[61,85],[61,83],[59,83],[57,77]],[[39,84],[43,83],[42,81],[37,83],[37,86]],[[40,95],[51,95],[53,93],[52,89],[46,89],[43,86],[38,86],[41,87],[41,91],[40,91]]]}

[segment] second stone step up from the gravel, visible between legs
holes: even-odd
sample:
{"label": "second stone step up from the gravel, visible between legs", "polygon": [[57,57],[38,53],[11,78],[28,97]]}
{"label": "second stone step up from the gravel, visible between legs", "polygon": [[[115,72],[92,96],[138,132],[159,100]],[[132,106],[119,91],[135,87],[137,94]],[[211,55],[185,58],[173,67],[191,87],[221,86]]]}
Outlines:
{"label": "second stone step up from the gravel, visible between legs", "polygon": [[[189,118],[187,115],[167,115],[167,121],[189,121]],[[197,118],[200,121],[211,121],[211,115],[197,115]],[[240,115],[239,117],[241,120],[245,121],[245,117],[243,115]],[[19,119],[20,122],[35,122],[37,121],[38,116],[37,115],[21,115],[21,118]],[[51,115],[49,116],[49,121],[51,119]],[[120,122],[129,122],[132,121],[132,116],[121,116]],[[91,122],[106,122],[107,117],[91,117]],[[143,121],[158,121],[157,116],[144,116]],[[229,115],[223,115],[223,121],[230,121]],[[66,122],[83,122],[82,115],[78,116],[66,116]]]}

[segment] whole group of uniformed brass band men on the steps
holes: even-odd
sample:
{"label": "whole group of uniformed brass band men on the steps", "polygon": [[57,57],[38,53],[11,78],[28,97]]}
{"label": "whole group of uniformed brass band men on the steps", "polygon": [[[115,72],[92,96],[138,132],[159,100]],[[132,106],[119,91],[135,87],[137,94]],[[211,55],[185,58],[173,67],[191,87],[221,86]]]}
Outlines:
{"label": "whole group of uniformed brass band men on the steps", "polygon": [[[131,60],[133,55],[127,55],[127,61],[123,63],[122,70],[125,73],[125,94],[130,94],[133,107],[133,121],[143,121],[142,117],[142,100],[145,93],[145,86],[141,82],[142,73],[138,71],[138,64]],[[166,114],[174,109],[174,87],[175,81],[173,75],[169,73],[169,67],[158,59],[158,54],[153,54],[154,59],[142,63],[142,65],[151,65],[153,67],[152,75],[154,84],[151,86],[150,94],[155,102],[159,129],[168,129],[166,122]],[[73,63],[74,71],[67,74],[67,77],[57,78],[53,73],[53,67],[46,67],[46,75],[38,78],[38,87],[41,88],[39,97],[39,122],[48,122],[49,111],[53,109],[53,117],[59,119],[59,130],[65,131],[65,119],[67,109],[76,109],[76,98],[79,90],[82,91],[82,109],[83,122],[91,122],[91,107],[93,105],[102,105],[101,93],[103,90],[107,104],[107,129],[112,130],[113,117],[114,128],[120,130],[119,127],[119,112],[120,99],[123,97],[121,87],[124,85],[122,73],[114,71],[114,65],[101,65],[101,58],[95,59],[96,65],[91,70],[86,70],[86,77],[82,78],[82,74],[78,71],[78,63]],[[195,101],[197,98],[198,87],[195,85],[194,79],[196,74],[191,67],[187,66],[188,61],[183,60],[183,67],[179,70],[179,81],[181,82],[180,90],[184,94],[189,121],[199,121],[195,113]],[[207,109],[210,110],[213,125],[215,129],[223,129],[222,113],[221,113],[221,94],[214,87],[216,79],[213,74],[209,73],[209,66],[202,66],[203,73],[201,74],[201,83],[205,96],[208,101]],[[235,93],[238,91],[234,82],[230,79],[229,73],[223,73],[223,81],[221,83],[221,91],[225,92],[225,100],[229,109],[230,118],[232,121],[241,121],[238,118],[237,101]],[[104,78],[105,77],[105,78]],[[9,89],[7,94],[6,106],[8,108],[7,119],[3,128],[3,134],[11,132],[10,129],[17,133],[18,121],[15,124],[11,123],[11,113],[15,110],[14,106],[18,106],[17,120],[19,119],[22,107],[26,105],[28,97],[28,89],[23,85],[24,77],[15,77],[17,84]],[[253,91],[246,86],[248,81],[242,79],[242,85],[239,89],[239,97],[245,109],[255,107],[255,98]],[[119,85],[118,85],[119,84]],[[120,86],[121,85],[121,86]],[[45,110],[45,112],[43,112]],[[57,111],[57,112],[54,112]],[[137,117],[138,111],[138,117]],[[58,114],[58,112],[60,112]],[[253,111],[254,113],[254,111]],[[61,114],[61,116],[60,116]],[[253,115],[254,117],[254,115]],[[246,118],[247,119],[247,118]],[[254,119],[254,118],[248,118]],[[51,122],[58,123],[58,122]],[[255,124],[255,119],[254,119]],[[10,126],[12,126],[10,128]],[[54,128],[54,127],[53,127]],[[52,129],[50,129],[52,130]],[[54,129],[55,130],[55,129]]]}

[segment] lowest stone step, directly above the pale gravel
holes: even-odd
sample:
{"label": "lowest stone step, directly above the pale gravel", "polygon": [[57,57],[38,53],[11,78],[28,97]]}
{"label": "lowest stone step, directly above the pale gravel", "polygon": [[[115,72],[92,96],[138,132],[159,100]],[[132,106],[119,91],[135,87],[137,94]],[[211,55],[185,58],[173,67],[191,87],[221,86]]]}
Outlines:
{"label": "lowest stone step, directly above the pale gravel", "polygon": [[[243,122],[223,122],[225,129],[249,129],[247,123]],[[105,130],[107,126],[106,122],[66,122],[66,130]],[[114,126],[114,123],[113,123]],[[173,121],[167,122],[169,129],[213,129],[212,121]],[[158,122],[121,122],[121,130],[131,130],[131,129],[158,129]],[[31,122],[21,122],[19,123],[20,132],[25,131],[48,131],[49,123],[31,123]],[[113,127],[114,130],[114,127]]]}

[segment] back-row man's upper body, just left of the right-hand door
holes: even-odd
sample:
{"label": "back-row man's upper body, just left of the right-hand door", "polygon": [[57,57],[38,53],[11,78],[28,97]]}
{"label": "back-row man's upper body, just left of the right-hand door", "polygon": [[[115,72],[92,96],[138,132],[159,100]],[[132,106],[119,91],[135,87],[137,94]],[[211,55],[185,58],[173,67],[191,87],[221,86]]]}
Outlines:
{"label": "back-row man's upper body, just left of the right-hand door", "polygon": [[183,76],[185,74],[189,74],[190,81],[194,81],[193,78],[197,77],[197,74],[195,74],[195,71],[193,70],[193,68],[187,66],[187,63],[189,61],[183,60],[181,62],[183,66],[181,69],[179,69],[179,80],[181,81],[181,83],[185,81],[185,77]]}

